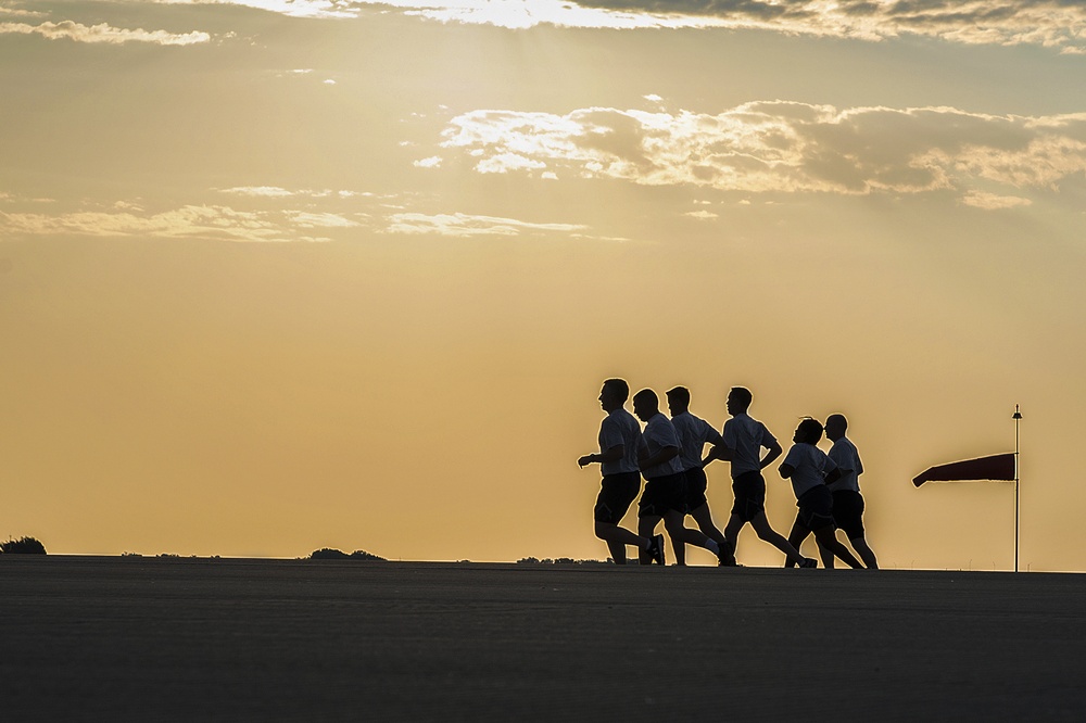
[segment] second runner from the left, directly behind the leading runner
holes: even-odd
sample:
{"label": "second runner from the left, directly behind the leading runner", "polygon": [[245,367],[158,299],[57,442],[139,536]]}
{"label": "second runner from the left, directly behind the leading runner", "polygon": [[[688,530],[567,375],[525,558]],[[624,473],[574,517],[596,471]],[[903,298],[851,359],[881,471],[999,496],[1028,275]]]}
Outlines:
{"label": "second runner from the left, directly behind the leading runner", "polygon": [[686,475],[679,461],[679,435],[671,420],[660,411],[656,392],[643,389],[634,394],[633,414],[645,422],[637,455],[641,473],[645,477],[645,491],[637,504],[637,532],[642,537],[654,537],[656,525],[664,520],[679,565],[686,563],[685,543],[705,547],[719,557],[717,543],[683,525],[683,518],[686,517]]}

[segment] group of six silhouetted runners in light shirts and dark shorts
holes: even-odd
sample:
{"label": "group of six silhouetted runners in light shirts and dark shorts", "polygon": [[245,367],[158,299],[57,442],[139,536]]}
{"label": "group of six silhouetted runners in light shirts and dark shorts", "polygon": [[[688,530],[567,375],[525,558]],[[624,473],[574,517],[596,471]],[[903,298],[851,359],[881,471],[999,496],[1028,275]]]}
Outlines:
{"label": "group of six silhouetted runners in light shirts and dark shorts", "polygon": [[[653,390],[643,389],[633,395],[633,415],[626,410],[629,396],[626,380],[604,382],[599,404],[607,416],[599,426],[599,453],[577,460],[582,468],[592,464],[601,467],[603,481],[593,511],[595,534],[607,543],[616,563],[626,563],[626,548],[632,546],[642,565],[665,565],[664,535],[656,532],[662,521],[675,565],[686,563],[689,544],[708,549],[721,566],[735,566],[735,543],[749,522],[758,537],[784,553],[785,567],[818,567],[815,558],[799,553],[804,541],[813,533],[824,567],[832,568],[836,557],[853,568],[877,568],[863,532],[859,486],[863,465],[856,445],[845,435],[848,421],[843,415],[830,415],[824,427],[817,419],[805,418],[796,428],[794,444],[779,467],[781,477],[792,482],[799,508],[785,538],[766,517],[766,480],[761,473],[784,449],[766,426],[748,414],[753,401],[749,390],[733,386],[728,393],[730,419],[720,432],[690,413],[690,391],[683,386],[667,392],[670,418],[660,411],[659,397]],[[637,419],[644,422],[644,429]],[[829,454],[817,446],[823,432],[833,442]],[[711,445],[708,453],[706,445]],[[705,466],[717,459],[731,464],[735,495],[723,531],[714,524],[705,496]],[[619,522],[639,493],[637,531],[633,532]],[[686,527],[687,515],[697,529]],[[845,532],[862,562],[837,540],[837,528]]]}

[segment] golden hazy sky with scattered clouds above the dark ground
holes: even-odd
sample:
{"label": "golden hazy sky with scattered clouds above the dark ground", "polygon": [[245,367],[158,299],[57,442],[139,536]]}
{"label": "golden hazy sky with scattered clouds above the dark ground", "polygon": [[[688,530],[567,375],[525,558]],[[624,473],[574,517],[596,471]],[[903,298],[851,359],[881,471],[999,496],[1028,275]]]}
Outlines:
{"label": "golden hazy sky with scattered clouds above the dark ground", "polygon": [[1013,566],[1011,484],[910,480],[1021,404],[1021,566],[1086,569],[1083,38],[1058,1],[0,0],[0,536],[603,558],[576,459],[620,376],[718,429],[747,385],[782,442],[844,413],[899,568]]}

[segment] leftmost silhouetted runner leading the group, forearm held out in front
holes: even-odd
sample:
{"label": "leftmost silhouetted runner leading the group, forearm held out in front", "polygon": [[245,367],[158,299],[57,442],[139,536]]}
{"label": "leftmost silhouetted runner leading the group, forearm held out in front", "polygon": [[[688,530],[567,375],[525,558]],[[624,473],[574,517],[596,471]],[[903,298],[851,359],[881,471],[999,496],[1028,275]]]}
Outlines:
{"label": "leftmost silhouetted runner leading the group, forearm held out in front", "polygon": [[624,379],[608,379],[604,382],[599,391],[599,406],[607,416],[599,423],[599,454],[584,455],[577,464],[582,468],[599,464],[603,481],[596,496],[593,519],[596,536],[607,543],[615,563],[626,565],[626,546],[633,545],[664,565],[664,535],[642,537],[618,525],[641,492],[641,472],[637,467],[641,424],[623,408],[629,396],[630,385]]}

